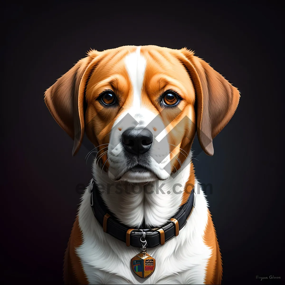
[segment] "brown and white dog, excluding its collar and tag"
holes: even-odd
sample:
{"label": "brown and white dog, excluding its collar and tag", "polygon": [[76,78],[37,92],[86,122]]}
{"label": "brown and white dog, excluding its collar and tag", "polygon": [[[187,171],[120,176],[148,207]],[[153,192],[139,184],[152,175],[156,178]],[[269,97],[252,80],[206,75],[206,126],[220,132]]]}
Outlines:
{"label": "brown and white dog, excluding its collar and tag", "polygon": [[[195,133],[212,156],[212,140],[233,116],[239,97],[192,51],[158,46],[91,50],[45,92],[52,116],[74,139],[72,154],[84,131],[97,147],[97,184],[161,186],[164,193],[148,195],[128,189],[118,195],[115,187],[102,191],[108,209],[130,228],[161,227],[187,201],[192,189],[186,184],[198,188],[191,161]],[[185,191],[174,193],[174,184]],[[65,253],[66,284],[221,283],[221,254],[203,191],[196,192],[196,206],[179,235],[148,249],[156,270],[145,279],[130,270],[138,249],[104,233],[89,201],[86,189]]]}

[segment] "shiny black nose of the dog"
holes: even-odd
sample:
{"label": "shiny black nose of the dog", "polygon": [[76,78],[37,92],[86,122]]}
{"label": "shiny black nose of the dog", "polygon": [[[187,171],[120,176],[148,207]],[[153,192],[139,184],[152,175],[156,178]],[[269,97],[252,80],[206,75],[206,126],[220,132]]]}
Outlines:
{"label": "shiny black nose of the dog", "polygon": [[150,149],[152,133],[147,129],[127,129],[122,134],[122,143],[127,152],[143,154]]}

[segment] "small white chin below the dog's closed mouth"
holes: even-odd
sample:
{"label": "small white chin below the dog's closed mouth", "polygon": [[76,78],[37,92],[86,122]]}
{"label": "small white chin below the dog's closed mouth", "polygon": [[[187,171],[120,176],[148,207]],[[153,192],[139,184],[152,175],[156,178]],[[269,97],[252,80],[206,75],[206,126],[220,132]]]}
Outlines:
{"label": "small white chin below the dog's closed mouth", "polygon": [[127,181],[132,183],[150,182],[158,179],[156,175],[146,169],[134,167],[127,171],[122,177],[121,181]]}

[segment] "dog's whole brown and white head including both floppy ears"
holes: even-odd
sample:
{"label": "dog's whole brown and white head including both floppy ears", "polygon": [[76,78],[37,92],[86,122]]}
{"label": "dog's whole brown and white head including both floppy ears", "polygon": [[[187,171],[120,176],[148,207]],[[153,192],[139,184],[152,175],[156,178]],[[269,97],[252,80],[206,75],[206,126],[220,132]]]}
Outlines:
{"label": "dog's whole brown and white head including both floppy ears", "polygon": [[239,91],[183,48],[123,46],[91,50],[45,92],[75,155],[84,132],[112,180],[165,180],[197,136],[213,155],[213,138],[233,116]]}

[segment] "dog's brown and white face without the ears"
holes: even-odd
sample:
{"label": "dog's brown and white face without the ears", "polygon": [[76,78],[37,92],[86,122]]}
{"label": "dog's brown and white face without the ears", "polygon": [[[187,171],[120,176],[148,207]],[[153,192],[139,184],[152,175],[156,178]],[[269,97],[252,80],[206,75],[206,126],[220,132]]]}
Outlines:
{"label": "dog's brown and white face without the ears", "polygon": [[[112,180],[167,179],[181,161],[182,141],[188,144],[195,134],[195,91],[188,73],[166,50],[159,51],[109,51],[89,78],[86,121],[93,123],[86,133],[101,145],[99,154]],[[165,128],[185,116],[188,125],[167,135]]]}

